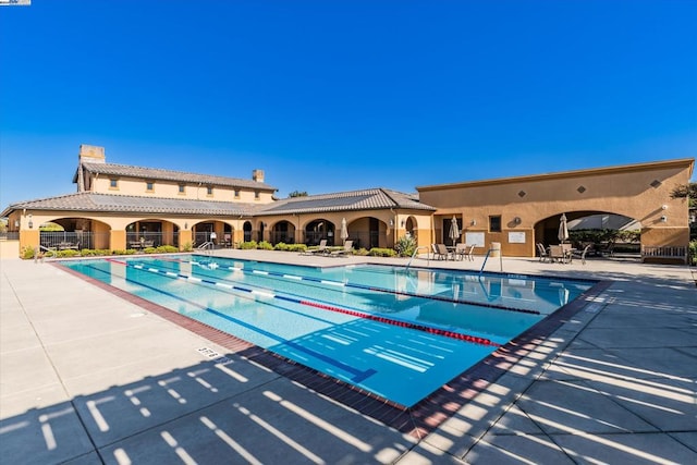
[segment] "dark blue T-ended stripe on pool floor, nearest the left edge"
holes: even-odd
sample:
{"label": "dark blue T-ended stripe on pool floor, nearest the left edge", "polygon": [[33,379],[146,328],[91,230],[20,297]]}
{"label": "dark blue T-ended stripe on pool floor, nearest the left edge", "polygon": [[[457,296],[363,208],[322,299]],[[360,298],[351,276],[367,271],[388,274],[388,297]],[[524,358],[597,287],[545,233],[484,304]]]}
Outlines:
{"label": "dark blue T-ended stripe on pool floor, nearest the left edge", "polygon": [[[114,262],[114,264],[123,265],[123,266],[125,266],[125,267],[133,267],[133,268],[139,269],[139,270],[142,270],[142,271],[156,272],[156,271],[154,271],[154,270],[155,270],[154,268],[148,268],[148,269],[146,269],[146,268],[137,268],[137,267],[135,267],[135,266],[132,266],[132,265],[126,264],[125,261],[120,261],[120,260],[114,260],[114,259],[109,259],[109,258],[107,258],[106,260],[107,260],[107,261]],[[102,271],[102,272],[107,273],[107,271],[105,271],[105,270],[100,270],[99,268],[96,268],[96,267],[93,267],[93,266],[89,266],[89,267],[90,267],[90,268],[94,268],[94,269],[97,269],[98,271]],[[162,276],[164,276],[164,277],[167,277],[167,278],[174,278],[174,277],[172,277],[172,276],[171,276],[171,274],[173,274],[173,273],[170,273],[170,274],[168,274],[168,273],[158,273],[158,272],[156,272],[156,273],[157,273],[157,274],[162,274]],[[288,339],[285,339],[285,338],[281,338],[281,336],[280,336],[280,335],[278,335],[278,334],[274,334],[274,333],[272,333],[272,332],[269,332],[269,331],[267,331],[267,330],[265,330],[265,329],[261,329],[261,328],[259,328],[259,327],[257,327],[257,326],[254,326],[254,325],[252,325],[252,323],[248,323],[248,322],[246,322],[246,321],[244,321],[244,320],[241,320],[241,319],[239,319],[239,318],[234,318],[234,317],[232,317],[232,316],[230,316],[230,315],[227,315],[227,314],[223,314],[222,311],[219,311],[219,310],[217,310],[217,309],[215,309],[215,308],[208,307],[208,306],[206,306],[206,305],[201,305],[201,304],[199,304],[199,303],[197,303],[197,302],[194,302],[194,301],[191,301],[191,299],[188,299],[188,298],[184,298],[184,297],[179,296],[179,295],[176,295],[176,294],[174,294],[174,293],[163,291],[163,290],[162,290],[162,289],[160,289],[160,287],[157,287],[157,286],[154,286],[154,285],[149,285],[149,284],[145,284],[145,283],[143,283],[143,282],[136,281],[136,280],[131,279],[131,278],[125,278],[125,280],[126,280],[126,281],[130,281],[130,282],[133,282],[133,283],[135,283],[135,284],[137,284],[137,285],[139,285],[139,286],[145,287],[145,289],[149,289],[149,290],[155,291],[155,292],[157,292],[157,293],[160,293],[160,294],[167,295],[168,297],[171,297],[171,298],[174,298],[174,299],[176,299],[176,301],[183,302],[183,303],[185,303],[185,304],[192,305],[192,306],[194,306],[194,307],[200,308],[201,310],[208,311],[208,313],[210,313],[210,314],[212,314],[212,315],[216,315],[216,316],[217,316],[217,317],[219,317],[219,318],[225,319],[225,320],[231,321],[231,322],[233,322],[233,323],[235,323],[235,325],[239,325],[239,326],[241,326],[241,327],[244,327],[244,328],[250,329],[252,331],[258,332],[258,333],[259,333],[259,334],[261,334],[261,335],[265,335],[265,336],[267,336],[267,338],[269,338],[269,339],[272,339],[272,340],[278,341],[278,342],[282,343],[282,344],[285,344],[286,346],[289,346],[289,347],[291,347],[291,348],[294,348],[294,350],[296,350],[296,351],[298,351],[298,352],[303,352],[303,353],[305,353],[305,354],[311,355],[313,357],[315,357],[315,358],[317,358],[317,359],[320,359],[320,360],[322,360],[322,362],[325,362],[325,363],[327,363],[327,364],[329,364],[329,365],[333,365],[333,366],[335,366],[337,368],[340,368],[340,369],[344,370],[345,372],[351,374],[351,375],[353,376],[353,378],[351,378],[351,380],[352,380],[353,382],[360,382],[360,381],[364,381],[365,379],[367,379],[367,378],[369,378],[369,377],[371,377],[372,375],[375,375],[375,374],[377,374],[377,372],[378,372],[378,371],[377,371],[376,369],[374,369],[374,368],[370,368],[370,369],[367,369],[367,370],[359,370],[359,369],[357,369],[357,368],[352,367],[351,365],[347,365],[347,364],[345,364],[345,363],[343,363],[343,362],[341,362],[341,360],[338,360],[338,359],[335,359],[335,358],[332,358],[332,357],[330,357],[330,356],[328,356],[328,355],[326,355],[326,354],[322,354],[322,353],[317,352],[317,351],[313,351],[311,348],[308,348],[308,347],[305,347],[305,346],[303,346],[303,345],[299,345],[298,343],[293,342],[293,341],[291,341],[291,340],[288,340]],[[189,318],[191,318],[191,317],[189,317]],[[274,352],[274,353],[278,353],[278,352],[272,351],[272,350],[270,350],[270,348],[269,348],[269,351]],[[282,354],[279,354],[279,355],[282,355]],[[288,358],[288,357],[286,357],[286,358]]]}

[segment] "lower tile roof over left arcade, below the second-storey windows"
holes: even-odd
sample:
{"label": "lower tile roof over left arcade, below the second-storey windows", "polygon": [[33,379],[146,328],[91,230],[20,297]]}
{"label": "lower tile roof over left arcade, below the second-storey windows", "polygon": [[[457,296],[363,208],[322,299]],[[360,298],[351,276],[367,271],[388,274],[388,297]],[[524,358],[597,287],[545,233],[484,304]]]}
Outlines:
{"label": "lower tile roof over left arcade, below the second-storey windows", "polygon": [[137,197],[82,192],[77,194],[21,201],[9,206],[2,215],[12,210],[61,210],[179,215],[249,215],[257,206],[231,201],[187,200],[180,198]]}

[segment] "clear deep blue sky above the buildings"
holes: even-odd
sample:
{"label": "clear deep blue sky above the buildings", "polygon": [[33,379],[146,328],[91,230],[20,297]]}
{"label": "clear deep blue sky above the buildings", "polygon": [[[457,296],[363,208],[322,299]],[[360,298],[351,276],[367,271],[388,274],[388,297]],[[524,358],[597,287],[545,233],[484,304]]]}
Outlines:
{"label": "clear deep blue sky above the buildings", "polygon": [[0,209],[107,161],[286,197],[697,156],[697,1],[0,8]]}

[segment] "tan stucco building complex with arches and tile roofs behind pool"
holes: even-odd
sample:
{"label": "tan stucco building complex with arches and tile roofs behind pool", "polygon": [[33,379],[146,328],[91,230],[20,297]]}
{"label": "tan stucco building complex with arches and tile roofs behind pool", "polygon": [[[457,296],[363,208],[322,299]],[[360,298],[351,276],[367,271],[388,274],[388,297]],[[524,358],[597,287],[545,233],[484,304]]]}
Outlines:
{"label": "tan stucco building complex with arches and tile roofs behind pool", "polygon": [[[243,241],[317,244],[347,223],[356,247],[393,247],[403,235],[421,252],[431,243],[465,242],[482,254],[500,244],[503,255],[533,257],[536,243],[557,240],[559,218],[622,215],[640,225],[641,247],[653,259],[684,255],[689,242],[688,203],[672,192],[689,183],[694,159],[567,171],[488,181],[388,188],[276,199],[262,170],[250,180],[107,162],[102,147],[83,145],[73,178],[76,193],[8,206],[10,231],[22,247],[53,247],[57,235],[39,225],[54,222],[61,243],[75,248],[123,250],[144,245],[196,247]],[[457,221],[462,235],[448,237]],[[677,250],[677,252],[676,252]]]}

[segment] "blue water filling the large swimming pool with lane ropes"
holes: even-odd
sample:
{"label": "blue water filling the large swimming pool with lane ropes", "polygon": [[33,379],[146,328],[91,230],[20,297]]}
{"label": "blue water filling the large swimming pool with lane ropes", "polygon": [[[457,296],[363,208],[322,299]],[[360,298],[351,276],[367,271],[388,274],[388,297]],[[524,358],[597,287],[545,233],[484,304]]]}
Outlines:
{"label": "blue water filling the large swimming pool with lane ropes", "polygon": [[62,265],[404,406],[592,285],[189,255]]}

